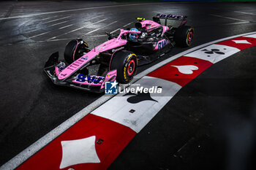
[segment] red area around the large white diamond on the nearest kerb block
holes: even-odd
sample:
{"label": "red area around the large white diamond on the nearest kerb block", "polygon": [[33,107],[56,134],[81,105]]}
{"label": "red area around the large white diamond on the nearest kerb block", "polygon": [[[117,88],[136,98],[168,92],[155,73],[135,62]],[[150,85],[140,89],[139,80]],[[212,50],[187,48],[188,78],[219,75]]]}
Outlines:
{"label": "red area around the large white diamond on the nearest kerb block", "polygon": [[[68,166],[64,170],[69,168],[75,170],[108,169],[108,166],[116,159],[121,150],[127,146],[135,134],[135,131],[124,125],[89,114],[29,158],[28,161],[18,167],[18,170],[59,169],[62,158],[61,141],[85,139],[91,136],[96,136],[95,149],[100,163],[80,163]],[[96,143],[99,139],[103,141],[101,144]]]}

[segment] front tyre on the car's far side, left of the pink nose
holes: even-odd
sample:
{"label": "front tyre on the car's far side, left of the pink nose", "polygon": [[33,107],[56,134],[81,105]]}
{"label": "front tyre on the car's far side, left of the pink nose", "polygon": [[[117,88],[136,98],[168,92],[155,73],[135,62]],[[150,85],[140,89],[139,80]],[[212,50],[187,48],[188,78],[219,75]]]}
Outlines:
{"label": "front tyre on the car's far side, left of the pink nose", "polygon": [[72,39],[65,47],[64,59],[70,64],[80,58],[84,53],[88,52],[88,45],[83,39]]}

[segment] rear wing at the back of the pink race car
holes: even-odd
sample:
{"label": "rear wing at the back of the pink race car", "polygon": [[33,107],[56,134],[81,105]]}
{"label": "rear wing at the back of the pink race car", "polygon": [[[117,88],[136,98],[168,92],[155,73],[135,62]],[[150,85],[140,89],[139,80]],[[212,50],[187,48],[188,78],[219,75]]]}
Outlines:
{"label": "rear wing at the back of the pink race car", "polygon": [[160,19],[165,20],[165,26],[167,25],[167,20],[180,20],[181,26],[183,26],[185,23],[187,23],[187,16],[185,15],[173,15],[173,14],[157,14],[155,17],[153,17],[153,20],[157,23],[160,23]]}

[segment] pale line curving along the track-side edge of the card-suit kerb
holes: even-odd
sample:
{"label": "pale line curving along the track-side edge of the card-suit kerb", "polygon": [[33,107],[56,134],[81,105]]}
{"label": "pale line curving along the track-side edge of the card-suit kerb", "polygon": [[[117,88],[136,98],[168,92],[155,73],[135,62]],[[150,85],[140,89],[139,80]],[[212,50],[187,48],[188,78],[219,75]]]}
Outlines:
{"label": "pale line curving along the track-side edge of the card-suit kerb", "polygon": [[[154,66],[151,66],[150,68],[146,69],[143,72],[140,72],[140,74],[137,74],[135,76],[135,79],[132,80],[131,83],[135,83],[136,81],[140,80],[143,76],[146,76],[146,74],[153,72],[155,69],[158,69],[160,66],[164,66],[166,63],[169,63],[170,61],[175,60],[176,58],[181,57],[182,55],[186,55],[187,53],[191,53],[195,50],[198,50],[202,47],[206,47],[208,45],[222,42],[227,39],[233,39],[238,36],[246,36],[249,34],[256,34],[255,32],[246,33],[246,34],[240,34],[236,36],[229,36],[224,39],[217,39],[213,42],[208,42],[203,45],[199,45],[197,47],[193,47],[189,50],[186,50],[182,53],[178,53],[176,55],[171,56],[170,58],[167,58],[165,61],[161,61],[160,63],[157,63]],[[97,109],[100,105],[104,104],[106,101],[108,101],[110,98],[113,98],[115,95],[103,95],[100,98],[97,99],[97,101],[94,101],[93,103],[89,104],[89,106],[82,109],[80,112],[76,113],[72,117],[70,117],[68,120],[66,120],[64,123],[61,123],[61,125],[54,128],[52,131],[50,131],[45,136],[42,136],[37,142],[34,142],[34,144],[31,144],[31,146],[27,147],[25,150],[20,152],[18,155],[16,155],[14,158],[12,158],[10,161],[5,163],[0,167],[0,170],[12,170],[16,169],[18,166],[20,166],[21,163],[26,161],[28,158],[30,158],[32,155],[34,155],[36,152],[42,149],[42,147],[45,147],[47,144],[49,144],[53,139],[56,139],[57,136],[61,135],[64,131],[67,131],[68,128],[70,128],[72,125],[77,123],[79,120],[81,120],[83,117],[91,113],[94,109]]]}

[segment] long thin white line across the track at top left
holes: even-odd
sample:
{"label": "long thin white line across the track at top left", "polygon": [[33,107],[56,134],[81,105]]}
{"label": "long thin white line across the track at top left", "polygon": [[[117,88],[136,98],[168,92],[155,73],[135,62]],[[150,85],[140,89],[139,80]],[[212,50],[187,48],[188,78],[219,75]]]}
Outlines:
{"label": "long thin white line across the track at top left", "polygon": [[41,13],[37,13],[37,14],[20,15],[20,16],[14,16],[14,17],[9,17],[9,18],[0,18],[0,20],[8,20],[8,19],[14,19],[14,18],[29,18],[29,17],[33,17],[33,16],[37,16],[37,15],[56,14],[56,13],[61,13],[61,12],[73,12],[73,11],[88,10],[88,9],[127,7],[127,6],[136,6],[136,5],[138,6],[138,5],[148,5],[148,4],[162,4],[162,3],[118,4],[118,5],[109,5],[109,6],[100,6],[100,7],[86,7],[86,8],[78,8],[78,9],[52,11],[52,12],[41,12]]}

